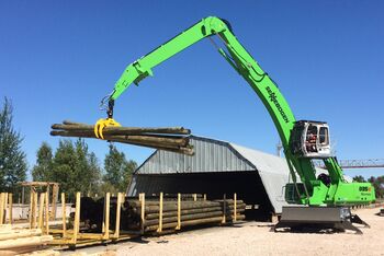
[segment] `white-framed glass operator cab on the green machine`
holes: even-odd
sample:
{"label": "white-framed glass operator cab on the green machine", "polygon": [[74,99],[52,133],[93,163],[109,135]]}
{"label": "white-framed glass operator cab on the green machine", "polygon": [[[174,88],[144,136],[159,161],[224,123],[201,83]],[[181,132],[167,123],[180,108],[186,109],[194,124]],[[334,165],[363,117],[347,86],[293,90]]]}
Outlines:
{"label": "white-framed glass operator cab on the green machine", "polygon": [[324,121],[298,120],[291,136],[291,151],[301,158],[330,156],[329,127]]}

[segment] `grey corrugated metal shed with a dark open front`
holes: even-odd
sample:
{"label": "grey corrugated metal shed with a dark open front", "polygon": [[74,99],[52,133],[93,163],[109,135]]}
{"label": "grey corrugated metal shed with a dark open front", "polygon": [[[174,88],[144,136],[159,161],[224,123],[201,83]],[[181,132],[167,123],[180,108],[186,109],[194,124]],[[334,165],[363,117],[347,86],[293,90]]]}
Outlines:
{"label": "grey corrugated metal shed with a dark open front", "polygon": [[201,193],[223,198],[237,193],[247,205],[281,213],[289,182],[285,159],[230,142],[192,136],[195,154],[155,151],[134,173],[128,196],[160,191]]}

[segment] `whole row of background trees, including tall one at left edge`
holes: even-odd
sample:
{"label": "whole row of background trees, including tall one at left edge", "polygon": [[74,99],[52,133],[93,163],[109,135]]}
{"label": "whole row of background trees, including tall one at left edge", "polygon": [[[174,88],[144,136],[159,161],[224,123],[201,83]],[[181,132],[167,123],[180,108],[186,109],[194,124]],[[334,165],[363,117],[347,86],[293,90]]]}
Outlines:
{"label": "whole row of background trees, including tall one at left edge", "polygon": [[[21,147],[23,137],[12,123],[12,104],[5,97],[0,109],[0,191],[18,197],[21,191],[18,183],[26,181],[29,165]],[[60,191],[72,199],[76,191],[86,195],[125,191],[136,167],[136,162],[127,160],[112,143],[101,166],[83,139],[61,139],[56,150],[47,142],[41,144],[31,175],[33,181],[59,183]]]}

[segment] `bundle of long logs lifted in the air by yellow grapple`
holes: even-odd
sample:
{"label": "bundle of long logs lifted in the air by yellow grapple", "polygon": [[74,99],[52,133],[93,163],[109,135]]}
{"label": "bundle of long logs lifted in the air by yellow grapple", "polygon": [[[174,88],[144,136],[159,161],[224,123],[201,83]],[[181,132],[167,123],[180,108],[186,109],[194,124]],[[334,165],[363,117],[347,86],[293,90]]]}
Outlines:
{"label": "bundle of long logs lifted in the air by yellow grapple", "polygon": [[[93,125],[65,120],[63,124],[52,125],[52,136],[98,139],[94,135]],[[112,142],[128,143],[193,155],[193,147],[189,143],[191,130],[183,127],[105,127],[102,133],[105,140]]]}

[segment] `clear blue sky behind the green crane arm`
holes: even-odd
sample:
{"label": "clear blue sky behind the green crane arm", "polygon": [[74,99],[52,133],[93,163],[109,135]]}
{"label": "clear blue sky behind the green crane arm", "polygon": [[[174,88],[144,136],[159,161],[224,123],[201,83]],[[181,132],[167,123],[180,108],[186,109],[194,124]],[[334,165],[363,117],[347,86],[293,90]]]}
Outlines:
{"label": "clear blue sky behind the green crane arm", "polygon": [[[326,120],[339,159],[384,158],[383,1],[0,1],[0,96],[30,166],[53,123],[93,124],[124,68],[204,16],[228,20],[297,119]],[[278,132],[248,84],[203,40],[115,104],[124,126],[184,126],[274,153]],[[100,162],[103,141],[88,141]],[[144,161],[153,151],[118,146]],[[353,176],[384,170],[346,171]]]}

